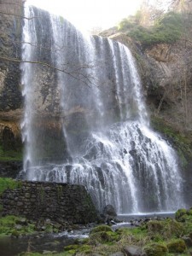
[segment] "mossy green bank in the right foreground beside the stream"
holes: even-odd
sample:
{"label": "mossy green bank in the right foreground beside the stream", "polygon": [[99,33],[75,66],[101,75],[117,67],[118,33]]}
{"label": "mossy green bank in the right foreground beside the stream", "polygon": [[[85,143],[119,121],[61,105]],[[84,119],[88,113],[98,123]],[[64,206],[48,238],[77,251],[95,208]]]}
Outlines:
{"label": "mossy green bank in the right foreground beside the stream", "polygon": [[[188,216],[183,222],[183,216]],[[190,217],[190,218],[189,218]],[[64,247],[56,256],[70,255],[110,255],[123,252],[125,246],[140,247],[148,256],[189,255],[184,237],[192,238],[192,209],[179,209],[176,218],[150,220],[137,228],[119,228],[113,231],[107,225],[100,225],[90,231],[90,237],[80,239],[75,244]],[[0,223],[1,225],[1,223]],[[4,225],[4,224],[3,224]],[[10,225],[13,226],[10,218]],[[13,234],[13,232],[12,232]],[[23,256],[39,256],[41,253],[21,253]],[[46,253],[52,255],[52,253]]]}

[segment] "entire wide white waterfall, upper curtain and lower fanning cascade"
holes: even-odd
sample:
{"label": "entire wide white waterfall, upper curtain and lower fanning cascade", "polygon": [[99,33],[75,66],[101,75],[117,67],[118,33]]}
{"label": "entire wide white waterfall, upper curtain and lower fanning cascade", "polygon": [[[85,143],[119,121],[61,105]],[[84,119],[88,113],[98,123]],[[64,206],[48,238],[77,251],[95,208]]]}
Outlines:
{"label": "entire wide white waterfall, upper curtain and lower fanning cascade", "polygon": [[32,6],[25,16],[26,178],[83,184],[100,211],[182,207],[177,154],[149,126],[130,50]]}

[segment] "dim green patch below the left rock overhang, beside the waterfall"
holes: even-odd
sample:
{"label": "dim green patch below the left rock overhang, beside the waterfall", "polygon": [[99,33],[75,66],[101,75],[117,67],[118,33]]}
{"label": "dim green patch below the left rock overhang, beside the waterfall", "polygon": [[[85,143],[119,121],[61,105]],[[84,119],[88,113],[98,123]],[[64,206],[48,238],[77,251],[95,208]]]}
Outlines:
{"label": "dim green patch below the left rock overhang, beside the waterfall", "polygon": [[10,161],[10,160],[22,160],[23,153],[22,150],[3,150],[2,145],[0,145],[0,160],[1,161]]}

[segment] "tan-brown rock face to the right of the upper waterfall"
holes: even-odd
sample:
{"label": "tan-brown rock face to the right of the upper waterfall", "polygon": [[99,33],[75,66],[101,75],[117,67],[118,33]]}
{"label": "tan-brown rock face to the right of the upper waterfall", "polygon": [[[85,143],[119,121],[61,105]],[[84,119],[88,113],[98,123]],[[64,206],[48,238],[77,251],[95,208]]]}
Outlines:
{"label": "tan-brown rock face to the right of the upper waterfall", "polygon": [[123,33],[110,38],[127,45],[135,55],[150,112],[179,130],[191,132],[191,43],[181,40],[143,49]]}

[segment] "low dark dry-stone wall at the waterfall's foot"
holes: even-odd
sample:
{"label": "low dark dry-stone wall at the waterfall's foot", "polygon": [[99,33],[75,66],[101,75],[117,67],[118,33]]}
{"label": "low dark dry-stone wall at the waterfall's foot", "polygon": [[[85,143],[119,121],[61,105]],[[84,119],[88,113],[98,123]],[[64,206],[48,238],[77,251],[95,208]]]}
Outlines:
{"label": "low dark dry-stone wall at the waterfall's foot", "polygon": [[2,215],[13,214],[33,220],[49,218],[59,223],[95,222],[96,208],[84,186],[66,183],[19,182],[0,198]]}

